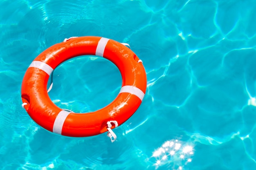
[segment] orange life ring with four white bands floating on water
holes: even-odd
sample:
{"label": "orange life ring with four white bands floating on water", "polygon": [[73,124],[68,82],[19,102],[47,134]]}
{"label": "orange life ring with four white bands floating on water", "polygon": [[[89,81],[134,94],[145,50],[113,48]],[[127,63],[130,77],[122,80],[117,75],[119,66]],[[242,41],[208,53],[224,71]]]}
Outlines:
{"label": "orange life ring with four white bands floating on water", "polygon": [[[119,68],[122,76],[121,90],[115,100],[90,113],[63,110],[47,93],[52,71],[65,60],[79,55],[104,57]],[[135,113],[145,92],[146,72],[137,55],[119,42],[94,36],[65,39],[43,51],[27,68],[21,87],[23,107],[29,116],[43,128],[70,137],[106,132],[109,121],[123,124]]]}

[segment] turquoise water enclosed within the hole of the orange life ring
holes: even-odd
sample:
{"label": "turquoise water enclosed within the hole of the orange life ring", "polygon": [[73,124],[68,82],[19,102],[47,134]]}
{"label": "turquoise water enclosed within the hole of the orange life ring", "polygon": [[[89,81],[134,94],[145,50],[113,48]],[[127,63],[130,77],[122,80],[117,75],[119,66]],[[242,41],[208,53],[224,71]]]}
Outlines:
{"label": "turquoise water enclosed within the hole of the orange life ring", "polygon": [[[56,106],[75,113],[88,113],[110,104],[118,95],[122,78],[115,64],[103,57],[83,55],[54,69],[48,95]],[[48,80],[48,88],[51,77]]]}

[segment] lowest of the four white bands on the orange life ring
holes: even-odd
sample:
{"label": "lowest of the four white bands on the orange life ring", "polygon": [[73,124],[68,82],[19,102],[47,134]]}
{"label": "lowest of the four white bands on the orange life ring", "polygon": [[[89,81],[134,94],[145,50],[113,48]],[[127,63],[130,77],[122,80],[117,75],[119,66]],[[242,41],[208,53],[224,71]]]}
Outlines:
{"label": "lowest of the four white bands on the orange life ring", "polygon": [[61,131],[62,131],[62,127],[63,127],[63,124],[64,124],[64,121],[66,120],[67,116],[72,113],[72,112],[69,112],[69,111],[66,111],[66,110],[61,110],[55,121],[54,121],[54,124],[53,124],[53,129],[52,129],[52,132],[54,133],[57,133],[59,135],[61,135]]}

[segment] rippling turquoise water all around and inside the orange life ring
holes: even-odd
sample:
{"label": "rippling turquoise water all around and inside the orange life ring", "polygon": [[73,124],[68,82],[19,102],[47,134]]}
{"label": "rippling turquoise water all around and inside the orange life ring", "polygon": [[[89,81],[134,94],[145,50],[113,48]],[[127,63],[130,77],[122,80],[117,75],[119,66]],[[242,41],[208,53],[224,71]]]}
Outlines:
{"label": "rippling turquoise water all around and inside the orange life ring", "polygon": [[[254,0],[2,0],[0,9],[0,169],[256,169]],[[21,107],[32,60],[85,35],[129,43],[146,69],[144,100],[114,143],[55,135]],[[111,62],[78,57],[56,68],[49,96],[89,112],[120,88]]]}

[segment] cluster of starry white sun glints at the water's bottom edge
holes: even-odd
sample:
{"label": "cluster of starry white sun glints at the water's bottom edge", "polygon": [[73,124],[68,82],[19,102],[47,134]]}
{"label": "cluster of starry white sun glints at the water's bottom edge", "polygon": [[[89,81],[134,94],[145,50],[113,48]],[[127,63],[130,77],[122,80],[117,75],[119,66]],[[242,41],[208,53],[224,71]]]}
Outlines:
{"label": "cluster of starry white sun glints at the water's bottom edge", "polygon": [[189,170],[193,155],[194,149],[191,145],[176,139],[164,142],[153,152],[152,157],[156,158],[156,168],[170,164],[172,170]]}

